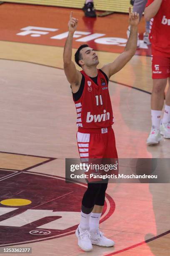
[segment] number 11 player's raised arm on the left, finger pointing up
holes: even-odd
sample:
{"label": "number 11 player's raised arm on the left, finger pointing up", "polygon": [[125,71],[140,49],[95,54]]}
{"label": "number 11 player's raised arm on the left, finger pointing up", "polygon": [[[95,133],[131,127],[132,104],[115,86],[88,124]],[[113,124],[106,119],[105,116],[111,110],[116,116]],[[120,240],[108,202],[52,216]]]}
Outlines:
{"label": "number 11 player's raised arm on the left, finger pointing up", "polygon": [[70,20],[68,22],[68,36],[64,46],[63,61],[64,61],[64,71],[68,82],[72,86],[72,91],[76,92],[80,86],[82,75],[76,69],[72,58],[72,40],[74,32],[77,28],[78,20],[72,17],[72,12],[70,14]]}

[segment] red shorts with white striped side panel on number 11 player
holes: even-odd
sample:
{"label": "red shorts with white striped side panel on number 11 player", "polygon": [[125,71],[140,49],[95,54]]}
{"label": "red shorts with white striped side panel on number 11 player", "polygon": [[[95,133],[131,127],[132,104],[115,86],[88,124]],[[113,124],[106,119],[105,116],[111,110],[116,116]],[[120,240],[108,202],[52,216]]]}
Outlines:
{"label": "red shorts with white striped side panel on number 11 player", "polygon": [[[103,159],[107,163],[110,161],[110,164],[113,164],[113,159],[114,163],[116,160],[118,161],[115,134],[111,126],[92,130],[79,128],[77,131],[77,144],[82,162],[89,163],[91,159],[93,161],[98,159],[99,161],[95,161],[95,164],[101,164]],[[88,179],[89,182],[100,180]]]}

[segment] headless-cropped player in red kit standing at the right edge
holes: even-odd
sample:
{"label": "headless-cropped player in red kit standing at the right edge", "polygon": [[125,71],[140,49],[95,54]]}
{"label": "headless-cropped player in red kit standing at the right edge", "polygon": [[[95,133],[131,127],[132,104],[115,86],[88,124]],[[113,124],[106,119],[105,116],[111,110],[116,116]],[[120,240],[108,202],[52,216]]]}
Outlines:
{"label": "headless-cropped player in red kit standing at the right edge", "polygon": [[152,128],[147,144],[154,145],[160,142],[160,134],[164,138],[170,138],[170,86],[166,95],[163,120],[160,124],[167,80],[170,85],[170,1],[148,0],[145,19],[151,19],[150,41],[153,55]]}

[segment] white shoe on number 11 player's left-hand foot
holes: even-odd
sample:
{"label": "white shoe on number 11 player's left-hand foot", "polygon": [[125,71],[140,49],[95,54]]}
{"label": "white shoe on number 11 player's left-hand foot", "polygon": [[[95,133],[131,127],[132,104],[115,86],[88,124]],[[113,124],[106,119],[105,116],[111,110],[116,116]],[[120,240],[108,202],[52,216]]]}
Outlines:
{"label": "white shoe on number 11 player's left-hand foot", "polygon": [[78,225],[75,235],[78,238],[78,246],[80,246],[83,251],[92,250],[92,242],[90,240],[90,233],[88,230],[80,228],[80,225]]}

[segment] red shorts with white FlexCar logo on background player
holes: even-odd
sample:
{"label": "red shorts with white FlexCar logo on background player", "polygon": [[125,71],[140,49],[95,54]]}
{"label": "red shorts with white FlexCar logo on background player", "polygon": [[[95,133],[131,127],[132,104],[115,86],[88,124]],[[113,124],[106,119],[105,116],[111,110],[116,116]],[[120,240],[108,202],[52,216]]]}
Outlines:
{"label": "red shorts with white FlexCar logo on background player", "polygon": [[152,78],[164,79],[170,77],[170,57],[153,54]]}

